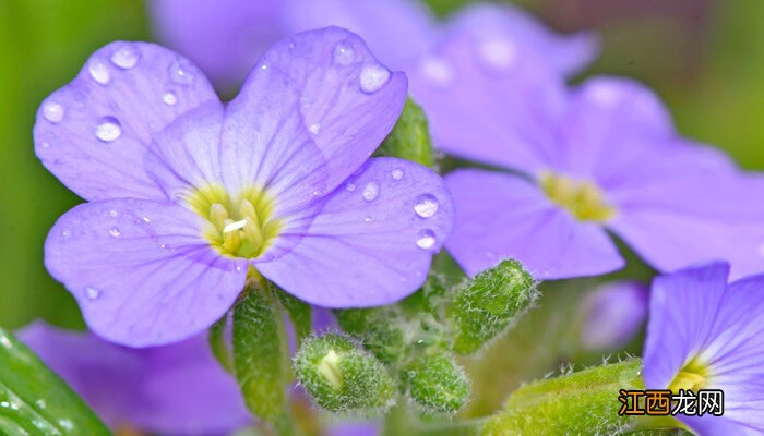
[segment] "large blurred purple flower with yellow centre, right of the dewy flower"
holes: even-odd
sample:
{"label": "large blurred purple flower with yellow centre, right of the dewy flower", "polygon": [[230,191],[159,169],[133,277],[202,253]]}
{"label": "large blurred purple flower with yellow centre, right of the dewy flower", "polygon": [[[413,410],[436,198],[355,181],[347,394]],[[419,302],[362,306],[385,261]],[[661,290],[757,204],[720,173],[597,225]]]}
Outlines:
{"label": "large blurred purple flower with yellow centre, right of the dewy flower", "polygon": [[439,146],[498,172],[463,169],[447,249],[470,275],[515,257],[538,278],[623,265],[608,231],[659,270],[724,258],[733,275],[764,270],[764,180],[681,138],[658,98],[632,81],[596,77],[566,90],[513,46],[454,37],[438,68],[410,73]]}

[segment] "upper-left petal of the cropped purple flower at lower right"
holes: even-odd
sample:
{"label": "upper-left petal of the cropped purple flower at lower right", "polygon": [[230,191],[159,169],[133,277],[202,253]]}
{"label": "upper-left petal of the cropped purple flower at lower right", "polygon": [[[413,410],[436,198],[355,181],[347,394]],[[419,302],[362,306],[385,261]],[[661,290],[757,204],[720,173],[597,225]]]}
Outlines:
{"label": "upper-left petal of the cropped purple flower at lower right", "polygon": [[644,348],[648,389],[666,389],[708,338],[724,301],[729,265],[714,263],[653,281]]}

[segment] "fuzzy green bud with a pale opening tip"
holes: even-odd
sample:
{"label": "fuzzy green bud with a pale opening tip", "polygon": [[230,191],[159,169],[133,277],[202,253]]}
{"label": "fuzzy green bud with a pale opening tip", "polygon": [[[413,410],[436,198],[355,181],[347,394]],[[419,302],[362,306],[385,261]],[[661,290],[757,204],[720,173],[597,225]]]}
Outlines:
{"label": "fuzzy green bud with a pale opening tip", "polygon": [[315,403],[330,411],[385,408],[393,382],[384,366],[349,339],[307,339],[294,359],[297,379]]}

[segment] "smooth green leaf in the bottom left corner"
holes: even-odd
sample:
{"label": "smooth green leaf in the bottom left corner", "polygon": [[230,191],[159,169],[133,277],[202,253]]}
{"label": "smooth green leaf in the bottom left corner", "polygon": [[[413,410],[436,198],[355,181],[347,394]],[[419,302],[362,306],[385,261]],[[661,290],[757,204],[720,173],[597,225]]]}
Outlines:
{"label": "smooth green leaf in the bottom left corner", "polygon": [[0,328],[0,434],[110,435],[63,380]]}

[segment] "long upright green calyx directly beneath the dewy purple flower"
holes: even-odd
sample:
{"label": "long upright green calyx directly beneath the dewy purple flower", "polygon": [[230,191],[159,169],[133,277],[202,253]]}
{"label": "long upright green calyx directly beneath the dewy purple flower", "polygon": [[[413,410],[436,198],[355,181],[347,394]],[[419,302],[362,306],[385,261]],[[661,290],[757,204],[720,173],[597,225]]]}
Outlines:
{"label": "long upright green calyx directly beneath the dewy purple flower", "polygon": [[234,364],[247,407],[276,423],[287,410],[286,332],[273,296],[248,288],[234,308]]}

